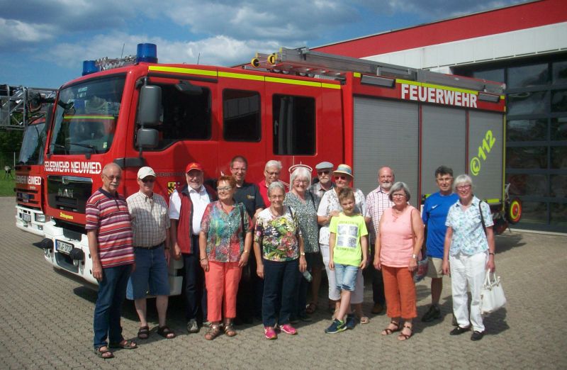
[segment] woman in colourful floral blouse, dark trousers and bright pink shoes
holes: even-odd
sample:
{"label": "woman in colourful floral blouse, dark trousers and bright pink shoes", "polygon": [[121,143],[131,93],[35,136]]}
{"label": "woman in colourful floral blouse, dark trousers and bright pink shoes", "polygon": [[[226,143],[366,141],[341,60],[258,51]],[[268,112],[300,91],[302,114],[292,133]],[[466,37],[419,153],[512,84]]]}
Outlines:
{"label": "woman in colourful floral blouse, dark trousers and bright pink shoes", "polygon": [[278,337],[276,321],[282,332],[297,334],[289,318],[297,290],[297,271],[303,272],[307,267],[297,215],[290,207],[283,206],[285,194],[280,181],[270,184],[271,204],[258,214],[254,230],[257,274],[264,279],[262,321],[264,335],[269,340]]}

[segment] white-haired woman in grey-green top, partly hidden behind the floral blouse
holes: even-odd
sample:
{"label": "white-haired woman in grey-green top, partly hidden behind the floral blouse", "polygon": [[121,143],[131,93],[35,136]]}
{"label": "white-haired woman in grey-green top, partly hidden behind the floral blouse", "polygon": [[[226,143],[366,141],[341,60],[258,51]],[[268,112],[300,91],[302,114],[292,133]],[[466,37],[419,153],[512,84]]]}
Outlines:
{"label": "white-haired woman in grey-green top, partly hidden behind the floral blouse", "polygon": [[[299,228],[303,235],[303,249],[305,250],[307,269],[311,271],[311,265],[319,252],[317,210],[315,209],[315,199],[308,191],[311,183],[311,173],[306,167],[297,167],[291,172],[289,182],[291,183],[291,191],[286,194],[283,204],[290,206],[296,212]],[[296,291],[296,306],[293,309],[291,320],[310,321],[306,312],[309,281],[303,278],[303,274],[299,271],[297,276],[299,285]]]}

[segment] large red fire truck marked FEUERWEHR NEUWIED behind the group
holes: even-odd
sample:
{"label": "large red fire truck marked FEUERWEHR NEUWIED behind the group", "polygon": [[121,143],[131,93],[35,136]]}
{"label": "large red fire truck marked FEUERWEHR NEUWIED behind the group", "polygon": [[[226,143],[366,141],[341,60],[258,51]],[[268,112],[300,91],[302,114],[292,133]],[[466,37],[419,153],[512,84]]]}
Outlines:
{"label": "large red fire truck marked FEUERWEHR NEUWIED behind the group", "polygon": [[[45,152],[45,257],[91,283],[85,201],[108,162],[123,169],[120,194],[137,191],[137,170],[151,166],[166,198],[184,184],[188,162],[215,179],[235,155],[247,157],[248,181],[262,178],[269,159],[286,169],[351,164],[365,194],[388,165],[415,199],[436,190],[434,169],[445,164],[471,174],[495,211],[503,207],[503,84],[305,48],[232,68],[160,65],[140,52],[129,65],[110,64],[61,87]],[[179,263],[172,294],[181,290]]]}

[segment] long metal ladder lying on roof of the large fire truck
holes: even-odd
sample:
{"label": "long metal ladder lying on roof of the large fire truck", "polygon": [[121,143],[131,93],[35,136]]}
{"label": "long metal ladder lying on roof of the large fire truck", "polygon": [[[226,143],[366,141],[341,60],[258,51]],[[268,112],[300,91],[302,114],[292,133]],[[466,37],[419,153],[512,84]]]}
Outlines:
{"label": "long metal ladder lying on roof of the large fire truck", "polygon": [[[483,91],[489,94],[503,94],[505,84],[486,81],[483,79],[469,79],[431,72],[425,69],[415,69],[390,65],[374,60],[364,60],[342,55],[315,52],[308,47],[287,49],[282,47],[274,54],[257,53],[246,69],[264,69],[268,72],[294,74],[323,79],[344,80],[349,72],[358,72],[364,76],[374,77],[374,84],[392,86],[392,79],[405,79],[428,84],[440,84],[460,89]],[[363,78],[364,78],[363,76]],[[377,79],[376,79],[377,77]]]}

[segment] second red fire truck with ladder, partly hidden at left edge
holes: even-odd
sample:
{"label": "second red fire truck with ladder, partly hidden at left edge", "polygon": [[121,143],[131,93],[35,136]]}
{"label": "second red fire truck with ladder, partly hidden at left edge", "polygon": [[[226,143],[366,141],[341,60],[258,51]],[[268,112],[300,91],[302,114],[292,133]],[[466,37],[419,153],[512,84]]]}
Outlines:
{"label": "second red fire truck with ladder, partly hidden at left edge", "polygon": [[16,163],[16,226],[43,236],[46,216],[43,213],[43,155],[46,122],[55,101],[55,89],[3,85],[0,92],[2,115],[11,120],[11,128],[25,128],[20,155]]}

